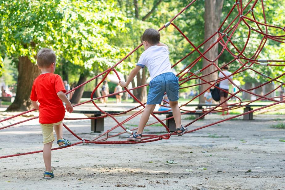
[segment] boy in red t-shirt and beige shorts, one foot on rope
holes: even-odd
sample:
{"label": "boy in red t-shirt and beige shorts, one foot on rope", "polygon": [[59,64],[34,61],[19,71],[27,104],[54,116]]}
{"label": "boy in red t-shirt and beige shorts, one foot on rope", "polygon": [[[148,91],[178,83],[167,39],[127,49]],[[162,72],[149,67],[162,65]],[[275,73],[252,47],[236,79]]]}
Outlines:
{"label": "boy in red t-shirt and beige shorts, one foot on rope", "polygon": [[[65,95],[65,86],[61,77],[55,72],[55,52],[43,48],[37,54],[37,64],[42,73],[35,79],[31,102],[35,109],[39,109],[39,123],[43,134],[43,160],[46,166],[44,179],[50,180],[54,177],[51,169],[51,146],[55,140],[53,128],[55,129],[57,144],[59,147],[71,145],[71,142],[62,136],[63,119],[66,110],[71,113],[73,107]],[[38,102],[39,101],[39,104]]]}

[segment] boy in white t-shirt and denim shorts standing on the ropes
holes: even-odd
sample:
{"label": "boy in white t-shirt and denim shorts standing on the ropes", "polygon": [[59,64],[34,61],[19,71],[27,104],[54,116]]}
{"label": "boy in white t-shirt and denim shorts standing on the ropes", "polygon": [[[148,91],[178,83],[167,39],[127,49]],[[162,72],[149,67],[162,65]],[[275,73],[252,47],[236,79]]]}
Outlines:
{"label": "boy in white t-shirt and denim shorts standing on the ropes", "polygon": [[155,106],[161,103],[165,92],[173,111],[177,134],[181,136],[187,131],[187,128],[181,125],[181,113],[177,101],[179,99],[179,83],[178,77],[171,70],[168,46],[159,42],[160,33],[153,28],[146,29],[141,40],[143,41],[145,52],[141,54],[136,67],[128,76],[127,81],[120,81],[120,85],[121,87],[127,87],[140,69],[145,66],[149,70],[151,81],[149,83],[148,100],[140,118],[138,130],[130,135],[127,140],[141,141],[141,134],[149,120],[149,115],[153,112]]}

